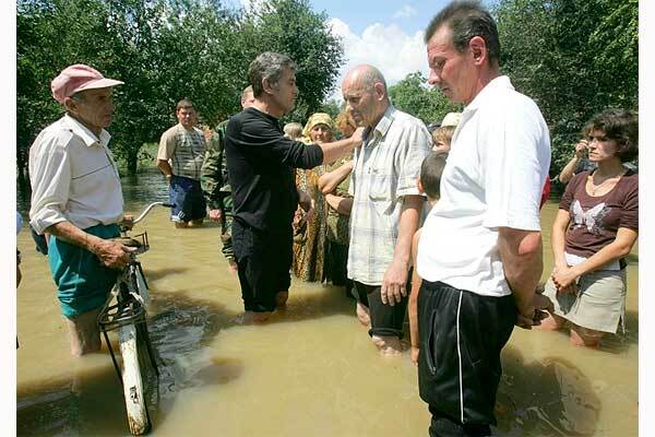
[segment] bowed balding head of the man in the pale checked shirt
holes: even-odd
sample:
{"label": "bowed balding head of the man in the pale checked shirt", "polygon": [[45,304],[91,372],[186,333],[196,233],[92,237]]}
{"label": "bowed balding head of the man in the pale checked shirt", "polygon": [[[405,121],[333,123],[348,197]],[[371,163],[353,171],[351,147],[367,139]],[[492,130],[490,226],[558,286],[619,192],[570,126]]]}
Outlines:
{"label": "bowed balding head of the man in the pale checked shirt", "polygon": [[386,81],[373,66],[353,68],[342,83],[346,111],[357,126],[376,127],[390,105]]}

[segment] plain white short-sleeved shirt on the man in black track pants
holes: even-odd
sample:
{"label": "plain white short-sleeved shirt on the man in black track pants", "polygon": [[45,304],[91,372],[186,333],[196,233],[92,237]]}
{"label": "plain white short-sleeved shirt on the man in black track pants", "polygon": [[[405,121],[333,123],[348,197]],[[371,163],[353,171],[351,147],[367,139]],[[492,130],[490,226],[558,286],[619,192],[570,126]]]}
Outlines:
{"label": "plain white short-sleeved shirt on the man in black track pants", "polygon": [[498,228],[540,231],[549,166],[548,127],[537,105],[508,76],[489,82],[453,135],[441,196],[418,245],[420,277],[480,295],[511,294]]}

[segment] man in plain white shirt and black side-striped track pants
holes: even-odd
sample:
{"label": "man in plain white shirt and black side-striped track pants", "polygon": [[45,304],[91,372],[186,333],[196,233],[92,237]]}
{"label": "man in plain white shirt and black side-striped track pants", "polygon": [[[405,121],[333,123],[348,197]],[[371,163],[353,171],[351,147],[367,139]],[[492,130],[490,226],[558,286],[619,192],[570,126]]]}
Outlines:
{"label": "man in plain white shirt and black side-striped track pants", "polygon": [[514,323],[538,324],[551,306],[535,294],[550,140],[535,103],[500,74],[496,23],[478,2],[445,7],[426,43],[430,84],[466,107],[418,247],[419,392],[431,436],[488,436],[500,352]]}

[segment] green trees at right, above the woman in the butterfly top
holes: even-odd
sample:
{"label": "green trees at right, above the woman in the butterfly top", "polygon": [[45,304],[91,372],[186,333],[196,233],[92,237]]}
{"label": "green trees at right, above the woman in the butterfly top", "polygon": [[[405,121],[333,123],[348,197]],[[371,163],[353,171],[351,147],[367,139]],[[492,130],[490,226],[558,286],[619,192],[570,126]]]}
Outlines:
{"label": "green trees at right, above the woman in the butterfly top", "polygon": [[504,0],[496,8],[502,70],[550,128],[551,176],[594,114],[638,108],[638,9],[636,0]]}

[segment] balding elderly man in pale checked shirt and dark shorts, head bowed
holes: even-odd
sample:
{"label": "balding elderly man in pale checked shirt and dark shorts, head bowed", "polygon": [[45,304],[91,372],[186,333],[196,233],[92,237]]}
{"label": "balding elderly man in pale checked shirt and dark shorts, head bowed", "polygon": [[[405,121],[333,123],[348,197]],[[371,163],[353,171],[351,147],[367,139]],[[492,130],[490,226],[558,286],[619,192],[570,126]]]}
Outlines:
{"label": "balding elderly man in pale checked shirt and dark shorts, head bowed", "polygon": [[384,78],[371,66],[350,70],[342,85],[346,109],[367,128],[354,152],[348,277],[357,315],[383,355],[401,353],[409,252],[425,198],[416,180],[432,141],[419,119],[391,105]]}

